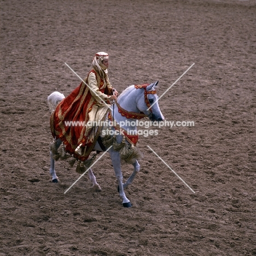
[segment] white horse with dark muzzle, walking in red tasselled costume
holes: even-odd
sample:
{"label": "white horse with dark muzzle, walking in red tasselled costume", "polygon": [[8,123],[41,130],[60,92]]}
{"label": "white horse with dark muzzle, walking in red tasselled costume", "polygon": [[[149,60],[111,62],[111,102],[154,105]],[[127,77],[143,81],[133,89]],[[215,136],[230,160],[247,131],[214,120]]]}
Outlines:
{"label": "white horse with dark muzzle, walking in red tasselled costume", "polygon": [[[148,117],[150,121],[162,121],[164,120],[164,116],[161,113],[158,105],[158,96],[156,95],[155,87],[158,84],[158,81],[152,83],[150,85],[145,86],[135,86],[131,85],[126,90],[124,90],[121,95],[118,97],[118,100],[115,104],[112,105],[112,116],[114,120],[118,124],[124,124],[121,126],[126,131],[137,131],[135,124],[135,119],[141,118],[144,113],[145,117]],[[48,103],[51,111],[53,112],[57,104],[64,98],[63,94],[60,92],[53,92],[53,94],[48,96]],[[154,105],[152,106],[152,104]],[[151,108],[149,108],[152,106]],[[134,115],[138,116],[134,116]],[[119,134],[116,136],[116,140],[118,143],[121,143],[123,140],[123,135]],[[56,147],[60,147],[62,141],[57,139]],[[126,141],[127,143],[127,141]],[[98,142],[95,144],[95,150],[103,151],[102,147]],[[127,199],[124,189],[127,185],[131,184],[136,174],[139,172],[139,163],[136,160],[133,165],[133,173],[127,179],[125,183],[123,183],[123,174],[121,172],[121,160],[119,151],[115,151],[112,148],[109,149],[109,154],[112,159],[112,164],[115,172],[115,176],[118,181],[118,191],[121,199],[123,199],[124,207],[131,207],[131,202]],[[54,183],[58,182],[58,177],[55,172],[55,160],[53,159],[53,153],[50,152],[51,162],[50,162],[50,174],[52,176],[52,181]],[[91,168],[88,171],[90,181],[92,182],[92,188],[96,191],[100,191],[100,185],[96,182],[96,178]]]}

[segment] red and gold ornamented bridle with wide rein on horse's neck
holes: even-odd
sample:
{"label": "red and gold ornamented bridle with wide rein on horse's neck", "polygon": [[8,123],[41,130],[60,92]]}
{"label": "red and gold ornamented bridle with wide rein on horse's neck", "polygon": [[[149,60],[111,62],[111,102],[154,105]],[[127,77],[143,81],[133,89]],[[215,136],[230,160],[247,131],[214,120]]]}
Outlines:
{"label": "red and gold ornamented bridle with wide rein on horse's neck", "polygon": [[[144,98],[145,98],[145,103],[147,105],[147,107],[150,107],[150,103],[148,101],[148,94],[156,94],[156,91],[147,91],[147,86],[149,84],[143,84],[143,85],[135,85],[134,87],[136,89],[141,89],[143,88],[144,89]],[[148,117],[148,115],[144,114],[143,112],[141,113],[136,113],[136,112],[130,112],[130,111],[127,111],[125,110],[124,108],[122,108],[119,103],[116,101],[115,104],[117,105],[118,107],[118,112],[123,116],[123,117],[126,117],[127,119],[142,119],[144,117]],[[152,108],[149,109],[150,112],[152,113]]]}

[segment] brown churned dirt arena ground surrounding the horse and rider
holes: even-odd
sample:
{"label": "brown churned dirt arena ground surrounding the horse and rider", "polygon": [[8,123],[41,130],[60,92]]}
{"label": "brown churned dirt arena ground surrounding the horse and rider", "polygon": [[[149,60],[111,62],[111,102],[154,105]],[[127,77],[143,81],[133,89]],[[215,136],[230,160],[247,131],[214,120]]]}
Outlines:
{"label": "brown churned dirt arena ground surrounding the horse and rider", "polygon": [[[0,256],[256,255],[256,2],[55,0],[0,2]],[[66,96],[110,55],[123,91],[159,80],[169,121],[140,136],[141,172],[124,208],[109,156],[88,176],[58,161],[49,174],[46,98]],[[195,194],[147,147],[195,191]],[[132,166],[124,165],[127,178]]]}

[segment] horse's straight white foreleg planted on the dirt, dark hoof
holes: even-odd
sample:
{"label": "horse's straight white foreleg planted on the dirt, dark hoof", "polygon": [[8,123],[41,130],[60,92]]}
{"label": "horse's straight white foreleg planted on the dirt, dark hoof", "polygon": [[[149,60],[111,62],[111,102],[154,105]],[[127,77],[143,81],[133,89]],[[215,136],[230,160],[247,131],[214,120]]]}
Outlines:
{"label": "horse's straight white foreleg planted on the dirt, dark hoof", "polygon": [[123,206],[124,207],[131,207],[131,202],[129,199],[127,199],[125,193],[124,193],[124,187],[123,187],[123,174],[121,172],[121,161],[120,161],[120,154],[119,152],[116,152],[114,150],[110,150],[112,165],[114,167],[115,171],[115,177],[117,177],[118,181],[118,187],[119,187],[119,195],[121,199],[123,199]]}

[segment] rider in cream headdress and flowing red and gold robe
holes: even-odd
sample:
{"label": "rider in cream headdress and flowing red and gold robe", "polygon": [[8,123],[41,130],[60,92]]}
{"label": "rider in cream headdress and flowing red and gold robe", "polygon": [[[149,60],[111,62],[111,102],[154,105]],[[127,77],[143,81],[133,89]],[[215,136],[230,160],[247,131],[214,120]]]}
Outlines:
{"label": "rider in cream headdress and flowing red and gold robe", "polygon": [[[92,70],[84,80],[75,88],[69,96],[64,98],[56,107],[50,119],[53,136],[60,138],[66,152],[84,160],[87,154],[75,151],[78,146],[91,147],[96,135],[96,129],[86,126],[89,121],[101,121],[109,110],[109,100],[116,100],[118,91],[114,90],[109,82],[108,68],[109,56],[103,51],[96,53],[92,61]],[[66,125],[67,121],[73,121],[78,125]],[[84,123],[84,125],[80,125]]]}

